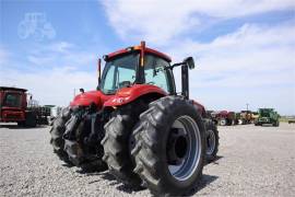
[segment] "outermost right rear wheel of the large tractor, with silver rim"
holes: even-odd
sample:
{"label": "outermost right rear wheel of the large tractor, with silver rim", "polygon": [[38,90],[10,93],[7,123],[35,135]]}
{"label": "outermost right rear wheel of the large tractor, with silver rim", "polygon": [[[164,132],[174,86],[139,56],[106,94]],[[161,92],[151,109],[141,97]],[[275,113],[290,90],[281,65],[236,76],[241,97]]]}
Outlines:
{"label": "outermost right rear wheel of the large tractor, with silver rim", "polygon": [[134,172],[155,196],[189,193],[202,176],[204,135],[192,102],[165,96],[151,103],[133,130]]}

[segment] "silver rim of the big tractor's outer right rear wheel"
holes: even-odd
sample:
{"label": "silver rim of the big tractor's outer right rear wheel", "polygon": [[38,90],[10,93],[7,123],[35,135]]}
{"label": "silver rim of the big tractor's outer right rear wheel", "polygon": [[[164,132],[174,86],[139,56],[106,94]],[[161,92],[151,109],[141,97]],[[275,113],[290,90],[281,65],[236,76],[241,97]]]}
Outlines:
{"label": "silver rim of the big tractor's outer right rear wheel", "polygon": [[[175,129],[178,130],[176,137],[172,135]],[[174,143],[172,144],[170,141]],[[177,158],[176,162],[174,157]],[[168,137],[167,164],[169,173],[178,181],[186,181],[194,174],[200,158],[201,136],[199,127],[191,117],[180,116],[174,121]]]}

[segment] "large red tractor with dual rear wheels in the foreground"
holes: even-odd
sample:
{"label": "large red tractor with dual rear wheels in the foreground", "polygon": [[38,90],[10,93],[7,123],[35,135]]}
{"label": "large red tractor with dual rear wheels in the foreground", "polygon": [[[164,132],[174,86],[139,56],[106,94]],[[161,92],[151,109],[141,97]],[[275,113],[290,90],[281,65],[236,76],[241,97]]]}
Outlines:
{"label": "large red tractor with dual rear wheels in the foreground", "polygon": [[[104,56],[96,91],[76,95],[54,121],[51,144],[64,162],[109,170],[134,189],[182,195],[196,187],[205,160],[216,157],[219,134],[204,107],[189,100],[191,57],[170,65],[157,50],[128,47]],[[173,70],[181,67],[182,91]]]}

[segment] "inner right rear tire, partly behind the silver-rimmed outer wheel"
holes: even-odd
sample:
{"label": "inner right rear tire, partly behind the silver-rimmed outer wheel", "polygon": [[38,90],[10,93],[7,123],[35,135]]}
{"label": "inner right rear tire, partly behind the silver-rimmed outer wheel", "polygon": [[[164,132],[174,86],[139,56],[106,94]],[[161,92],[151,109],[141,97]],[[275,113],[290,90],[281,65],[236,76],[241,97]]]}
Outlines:
{"label": "inner right rear tire, partly behind the silver-rimmed outer wheel", "polygon": [[105,138],[102,140],[109,173],[118,181],[133,189],[141,188],[141,178],[133,172],[134,163],[130,157],[130,136],[139,115],[146,106],[133,103],[117,109],[113,118],[105,125]]}

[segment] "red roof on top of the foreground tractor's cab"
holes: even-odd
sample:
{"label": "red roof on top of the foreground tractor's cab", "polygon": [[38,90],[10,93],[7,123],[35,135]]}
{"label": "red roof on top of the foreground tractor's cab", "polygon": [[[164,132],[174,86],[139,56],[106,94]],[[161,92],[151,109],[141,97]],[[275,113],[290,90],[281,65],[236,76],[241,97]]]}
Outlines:
{"label": "red roof on top of the foreground tractor's cab", "polygon": [[[141,50],[142,46],[131,46],[131,47],[127,47],[127,48],[123,48],[123,49],[120,49],[120,50],[117,50],[115,53],[110,53],[107,55],[107,58],[113,58],[113,57],[116,57],[116,56],[120,56],[120,55],[123,55],[123,54],[127,54],[127,53],[130,53],[130,51],[135,51],[135,50]],[[167,60],[168,62],[172,61],[172,58],[169,56],[167,56],[166,54],[163,54],[161,51],[157,51],[155,49],[152,49],[152,48],[149,48],[149,47],[145,47],[144,48],[144,53],[148,53],[148,54],[152,54],[152,55],[155,55],[155,56],[158,56],[165,60]]]}

